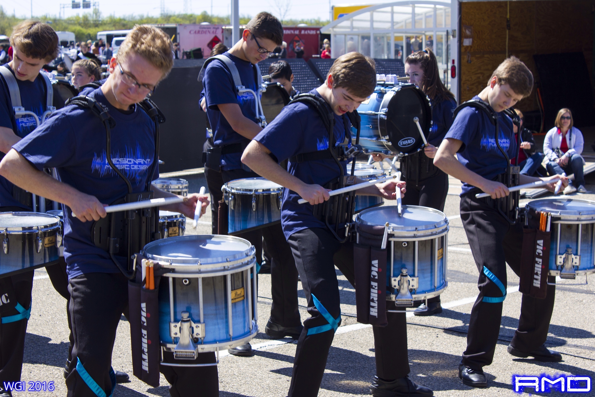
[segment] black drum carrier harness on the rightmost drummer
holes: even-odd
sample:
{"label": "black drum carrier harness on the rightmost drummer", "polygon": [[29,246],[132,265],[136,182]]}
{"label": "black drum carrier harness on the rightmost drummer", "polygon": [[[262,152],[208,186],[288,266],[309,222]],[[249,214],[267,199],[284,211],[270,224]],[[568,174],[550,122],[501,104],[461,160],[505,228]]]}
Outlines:
{"label": "black drum carrier harness on the rightmost drummer", "polygon": [[[521,146],[521,124],[520,124],[518,115],[516,114],[515,111],[513,111],[511,109],[506,109],[506,110],[502,111],[504,114],[508,115],[508,117],[510,117],[512,119],[512,122],[515,124],[516,130],[518,131],[518,133],[516,134],[517,135],[516,161],[515,161],[515,165],[511,165],[511,160],[508,158],[508,155],[500,146],[500,142],[498,139],[498,133],[500,132],[500,129],[498,126],[499,116],[498,116],[497,112],[494,111],[494,109],[487,102],[481,101],[481,100],[476,100],[476,99],[471,99],[471,101],[463,102],[461,105],[459,105],[455,109],[455,111],[453,112],[453,115],[452,115],[453,120],[456,118],[456,115],[459,113],[459,111],[461,111],[463,108],[466,108],[466,107],[472,107],[472,108],[478,109],[480,111],[483,111],[487,115],[491,124],[493,124],[493,126],[496,127],[496,135],[495,135],[496,146],[497,146],[498,150],[500,151],[500,153],[502,153],[502,155],[506,159],[506,172],[498,175],[493,180],[496,182],[503,183],[504,185],[506,185],[506,187],[518,186],[519,185],[519,176],[521,174],[521,167],[519,167],[519,165],[518,165],[519,148]],[[491,204],[500,213],[500,215],[502,215],[503,217],[506,218],[506,220],[508,220],[508,222],[510,224],[515,224],[519,218],[519,201],[520,201],[520,199],[521,199],[521,192],[516,191],[516,192],[509,193],[509,195],[506,196],[505,198],[500,198],[500,199],[494,200],[494,199],[487,197],[486,202],[488,204]]]}

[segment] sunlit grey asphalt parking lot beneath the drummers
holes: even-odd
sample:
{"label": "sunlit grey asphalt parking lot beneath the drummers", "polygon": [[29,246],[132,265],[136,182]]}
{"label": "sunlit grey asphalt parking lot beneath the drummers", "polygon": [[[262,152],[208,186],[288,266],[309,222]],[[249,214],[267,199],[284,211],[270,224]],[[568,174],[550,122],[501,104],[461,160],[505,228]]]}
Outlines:
{"label": "sunlit grey asphalt parking lot beneath the drummers", "polygon": [[[474,389],[458,379],[458,363],[466,346],[466,329],[472,302],[477,296],[478,271],[472,258],[459,214],[459,198],[456,184],[451,180],[452,194],[446,201],[445,213],[449,218],[448,280],[449,286],[441,296],[442,314],[433,317],[408,315],[408,348],[411,374],[417,383],[434,390],[436,396],[512,396],[513,374],[538,376],[558,374],[588,376],[595,379],[595,287],[593,276],[585,284],[585,277],[577,280],[562,280],[556,290],[556,304],[547,338],[547,347],[562,353],[558,363],[518,359],[506,351],[516,326],[521,304],[518,277],[509,269],[508,296],[504,301],[500,339],[496,346],[493,364],[485,367],[489,387]],[[191,183],[206,185],[201,177]],[[587,177],[587,189],[595,192],[595,177]],[[593,199],[595,195],[574,195],[577,198]],[[527,202],[524,200],[523,202]],[[197,229],[192,229],[192,220],[187,220],[187,234],[210,234],[210,212],[201,218]],[[355,290],[339,274],[343,321],[334,337],[328,357],[327,369],[320,389],[320,396],[369,395],[369,383],[375,374],[374,342],[372,329],[359,324],[350,315],[355,314]],[[300,305],[305,305],[303,291],[299,287]],[[275,396],[287,395],[296,345],[291,340],[271,340],[264,333],[270,312],[270,276],[259,276],[258,324],[261,332],[252,340],[257,349],[253,357],[233,357],[222,354],[218,365],[220,396]],[[54,392],[15,392],[15,396],[65,395],[66,389],[62,368],[67,358],[68,327],[66,301],[49,281],[44,270],[36,271],[33,286],[33,308],[27,329],[22,380],[50,382]],[[305,308],[300,308],[302,320],[307,317]],[[116,336],[112,365],[126,371],[131,380],[118,385],[115,396],[168,396],[168,384],[161,377],[161,386],[151,387],[134,378],[130,360],[130,327],[122,317]],[[201,387],[201,380],[196,380]],[[533,392],[533,389],[528,389]],[[528,393],[525,393],[528,395]],[[563,395],[565,393],[537,393],[537,395]]]}

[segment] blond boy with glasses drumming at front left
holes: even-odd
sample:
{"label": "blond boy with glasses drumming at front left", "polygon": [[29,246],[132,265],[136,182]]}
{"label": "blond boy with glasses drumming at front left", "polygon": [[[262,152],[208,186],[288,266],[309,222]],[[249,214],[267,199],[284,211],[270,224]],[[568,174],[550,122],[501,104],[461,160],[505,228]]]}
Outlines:
{"label": "blond boy with glasses drumming at front left", "polygon": [[[118,56],[110,60],[107,81],[87,95],[115,120],[110,134],[111,157],[118,159],[118,170],[126,174],[133,193],[142,192],[159,175],[155,122],[137,104],[151,95],[170,72],[171,51],[171,40],[162,30],[135,26]],[[105,134],[104,124],[92,111],[69,105],[14,145],[0,163],[2,176],[29,192],[65,205],[64,257],[74,336],[66,378],[68,396],[112,395],[112,349],[121,314],[128,312],[128,279],[110,253],[95,245],[92,238],[93,221],[107,215],[104,205],[120,200],[128,192],[127,184],[106,160]],[[54,167],[60,181],[40,171]],[[155,198],[174,196],[154,186],[151,190]],[[180,204],[161,208],[191,217],[196,205],[205,212],[208,198],[192,194]],[[215,355],[199,354],[197,361],[212,363]],[[171,383],[172,396],[218,395],[215,366],[161,366],[160,370]]]}

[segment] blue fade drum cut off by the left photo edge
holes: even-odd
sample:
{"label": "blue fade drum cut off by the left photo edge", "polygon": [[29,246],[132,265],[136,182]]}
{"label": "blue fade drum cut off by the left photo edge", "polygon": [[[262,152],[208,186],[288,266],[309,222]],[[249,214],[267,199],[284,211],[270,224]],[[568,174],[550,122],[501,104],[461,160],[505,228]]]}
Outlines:
{"label": "blue fade drum cut off by the left photo edge", "polygon": [[0,277],[52,265],[62,245],[60,218],[40,212],[0,212]]}

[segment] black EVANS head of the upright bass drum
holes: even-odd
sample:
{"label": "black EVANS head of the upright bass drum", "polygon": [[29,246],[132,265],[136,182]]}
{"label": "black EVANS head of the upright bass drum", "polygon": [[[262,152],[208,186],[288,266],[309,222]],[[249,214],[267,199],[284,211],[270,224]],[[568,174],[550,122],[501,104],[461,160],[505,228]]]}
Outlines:
{"label": "black EVANS head of the upright bass drum", "polygon": [[387,108],[386,120],[381,119],[380,129],[386,129],[384,133],[397,151],[404,154],[417,152],[424,141],[413,119],[419,118],[419,125],[427,139],[432,121],[427,96],[414,85],[406,85],[394,90],[389,103],[385,102],[386,99],[382,106]]}

